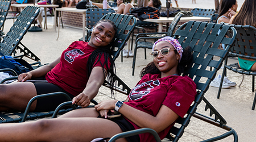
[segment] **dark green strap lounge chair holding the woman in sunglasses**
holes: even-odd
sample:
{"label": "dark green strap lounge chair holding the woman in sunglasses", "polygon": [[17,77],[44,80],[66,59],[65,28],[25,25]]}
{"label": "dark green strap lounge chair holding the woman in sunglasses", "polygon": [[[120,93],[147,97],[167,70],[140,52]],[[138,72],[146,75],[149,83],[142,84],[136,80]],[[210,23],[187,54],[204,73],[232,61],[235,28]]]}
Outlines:
{"label": "dark green strap lounge chair holding the woman in sunglasses", "polygon": [[[219,30],[221,30],[220,34],[217,34]],[[226,32],[232,33],[230,37],[225,36]],[[204,120],[205,122],[228,131],[220,136],[216,136],[204,141],[217,141],[232,135],[234,137],[234,141],[238,141],[236,131],[229,126],[226,126],[226,120],[204,96],[209,89],[210,82],[214,79],[217,71],[221,68],[222,62],[228,56],[229,49],[234,43],[236,34],[236,29],[232,26],[195,21],[189,21],[183,24],[175,32],[174,38],[179,40],[181,47],[185,48],[190,46],[192,48],[193,65],[190,69],[185,70],[182,76],[188,76],[196,83],[197,95],[195,101],[189,108],[187,115],[185,115],[184,118],[179,118],[176,121],[176,124],[170,130],[170,135],[166,136],[167,139],[170,139],[171,141],[178,141],[183,135],[185,128],[189,125],[192,116],[195,116],[195,118]],[[218,49],[218,46],[221,44],[225,44],[225,50]],[[213,69],[210,70],[210,67]],[[206,103],[205,111],[210,110],[209,116],[196,112],[197,106],[201,102]],[[214,118],[212,118],[213,116]],[[206,129],[207,128],[205,128],[205,131],[207,131]],[[139,130],[119,133],[113,136],[109,141],[112,142],[121,137],[138,135],[139,133],[144,132],[152,133],[155,140],[160,141],[157,133],[150,128],[142,128]]]}

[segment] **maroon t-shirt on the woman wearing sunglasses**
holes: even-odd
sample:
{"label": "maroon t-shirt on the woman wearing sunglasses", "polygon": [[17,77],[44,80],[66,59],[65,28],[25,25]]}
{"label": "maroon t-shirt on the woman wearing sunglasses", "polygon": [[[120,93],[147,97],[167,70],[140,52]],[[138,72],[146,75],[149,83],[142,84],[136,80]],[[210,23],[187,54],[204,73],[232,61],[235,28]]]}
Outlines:
{"label": "maroon t-shirt on the woman wearing sunglasses", "polygon": [[[156,116],[160,107],[165,105],[177,115],[183,117],[195,99],[196,84],[187,76],[159,77],[160,74],[146,74],[143,76],[137,86],[131,90],[129,102],[125,103],[152,116]],[[129,120],[129,122],[131,121]],[[135,129],[140,128],[133,122],[131,124]],[[158,133],[160,139],[167,135],[173,125],[174,123]],[[155,141],[154,136],[150,133],[142,133],[139,137],[141,141]]]}

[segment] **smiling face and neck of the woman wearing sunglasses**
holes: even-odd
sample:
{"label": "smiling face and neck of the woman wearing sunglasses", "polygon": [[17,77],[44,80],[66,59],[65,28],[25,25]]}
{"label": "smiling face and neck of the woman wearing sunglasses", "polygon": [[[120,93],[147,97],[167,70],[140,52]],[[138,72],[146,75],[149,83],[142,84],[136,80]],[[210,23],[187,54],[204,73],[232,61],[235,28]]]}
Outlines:
{"label": "smiling face and neck of the woman wearing sunglasses", "polygon": [[158,52],[158,56],[154,58],[156,68],[162,72],[161,77],[177,74],[177,65],[179,64],[180,55],[175,52],[176,49],[167,41],[160,41],[155,45],[154,51],[160,51],[163,48],[170,48],[168,55],[163,56]]}

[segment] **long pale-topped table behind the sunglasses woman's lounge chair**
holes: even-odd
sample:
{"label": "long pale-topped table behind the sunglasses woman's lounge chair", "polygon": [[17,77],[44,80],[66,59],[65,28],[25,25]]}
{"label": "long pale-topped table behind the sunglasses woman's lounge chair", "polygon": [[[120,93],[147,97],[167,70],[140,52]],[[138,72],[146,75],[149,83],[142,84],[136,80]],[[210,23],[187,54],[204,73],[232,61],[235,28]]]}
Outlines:
{"label": "long pale-topped table behind the sunglasses woman's lounge chair", "polygon": [[[158,23],[158,32],[163,31],[163,23],[170,23],[174,20],[174,17],[159,17],[159,19],[144,19],[143,21],[146,22],[154,22]],[[180,22],[188,22],[189,20],[196,20],[196,21],[210,21],[209,17],[201,17],[201,16],[187,16],[181,17]]]}

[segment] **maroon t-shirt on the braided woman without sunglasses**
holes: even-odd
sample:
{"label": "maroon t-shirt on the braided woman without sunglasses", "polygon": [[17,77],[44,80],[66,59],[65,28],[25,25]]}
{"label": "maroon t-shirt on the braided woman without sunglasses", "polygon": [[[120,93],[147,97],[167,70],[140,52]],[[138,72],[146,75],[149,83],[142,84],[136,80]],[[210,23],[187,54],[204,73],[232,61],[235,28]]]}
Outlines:
{"label": "maroon t-shirt on the braided woman without sunglasses", "polygon": [[[88,81],[87,61],[95,49],[84,41],[73,42],[61,54],[60,62],[46,74],[46,80],[72,95],[79,95],[85,89]],[[95,61],[97,60],[98,57]],[[104,62],[104,56],[101,56],[100,60]],[[94,63],[94,66],[101,66],[101,63]],[[108,60],[108,66],[110,66],[110,60]]]}

